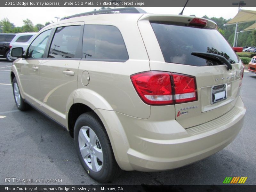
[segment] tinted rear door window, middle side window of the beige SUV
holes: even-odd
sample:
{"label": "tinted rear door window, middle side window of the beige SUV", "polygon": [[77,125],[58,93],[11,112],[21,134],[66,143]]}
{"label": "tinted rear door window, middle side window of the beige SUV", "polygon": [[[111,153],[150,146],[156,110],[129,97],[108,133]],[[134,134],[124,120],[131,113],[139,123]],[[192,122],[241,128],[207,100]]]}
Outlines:
{"label": "tinted rear door window, middle side window of the beige SUV", "polygon": [[52,39],[49,58],[76,58],[81,25],[59,27]]}

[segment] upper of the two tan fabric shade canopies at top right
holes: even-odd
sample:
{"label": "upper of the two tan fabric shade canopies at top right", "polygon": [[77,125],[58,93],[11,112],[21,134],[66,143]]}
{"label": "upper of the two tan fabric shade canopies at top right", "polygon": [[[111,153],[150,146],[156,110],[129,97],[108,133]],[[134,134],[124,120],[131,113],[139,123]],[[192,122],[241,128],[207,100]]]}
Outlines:
{"label": "upper of the two tan fabric shade canopies at top right", "polygon": [[256,21],[256,11],[240,9],[236,16],[228,21],[225,25],[233,25],[236,23],[245,23]]}

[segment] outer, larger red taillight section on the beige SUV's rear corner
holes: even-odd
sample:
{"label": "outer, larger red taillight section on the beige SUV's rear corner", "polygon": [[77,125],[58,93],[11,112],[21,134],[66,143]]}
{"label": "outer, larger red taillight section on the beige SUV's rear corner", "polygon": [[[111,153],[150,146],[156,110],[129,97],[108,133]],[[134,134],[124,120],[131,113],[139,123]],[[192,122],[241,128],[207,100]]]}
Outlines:
{"label": "outer, larger red taillight section on the beige SUV's rear corner", "polygon": [[150,105],[173,103],[170,73],[147,71],[132,75],[131,80],[145,103]]}

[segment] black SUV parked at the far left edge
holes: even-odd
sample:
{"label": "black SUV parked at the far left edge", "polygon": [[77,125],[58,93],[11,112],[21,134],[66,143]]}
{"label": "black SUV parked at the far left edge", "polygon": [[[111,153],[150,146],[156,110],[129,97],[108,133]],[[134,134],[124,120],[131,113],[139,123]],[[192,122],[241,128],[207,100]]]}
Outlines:
{"label": "black SUV parked at the far left edge", "polygon": [[12,61],[9,45],[15,36],[16,36],[15,33],[0,34],[0,57],[6,58],[8,61]]}

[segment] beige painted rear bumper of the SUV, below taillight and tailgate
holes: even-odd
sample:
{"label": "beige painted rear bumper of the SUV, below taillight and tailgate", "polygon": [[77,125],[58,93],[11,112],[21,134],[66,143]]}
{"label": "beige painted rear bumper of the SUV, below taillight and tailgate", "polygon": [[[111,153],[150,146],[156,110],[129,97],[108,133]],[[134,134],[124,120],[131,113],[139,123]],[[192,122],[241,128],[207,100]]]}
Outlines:
{"label": "beige painted rear bumper of the SUV, below taillight and tailgate", "polygon": [[[239,97],[236,106],[225,115],[187,129],[175,120],[138,119],[114,112],[119,128],[115,129],[114,135],[107,131],[112,147],[114,145],[116,161],[122,169],[170,170],[201,160],[226,147],[241,130],[245,111]],[[116,122],[113,118],[112,121]],[[117,137],[120,128],[124,132],[118,133]]]}

